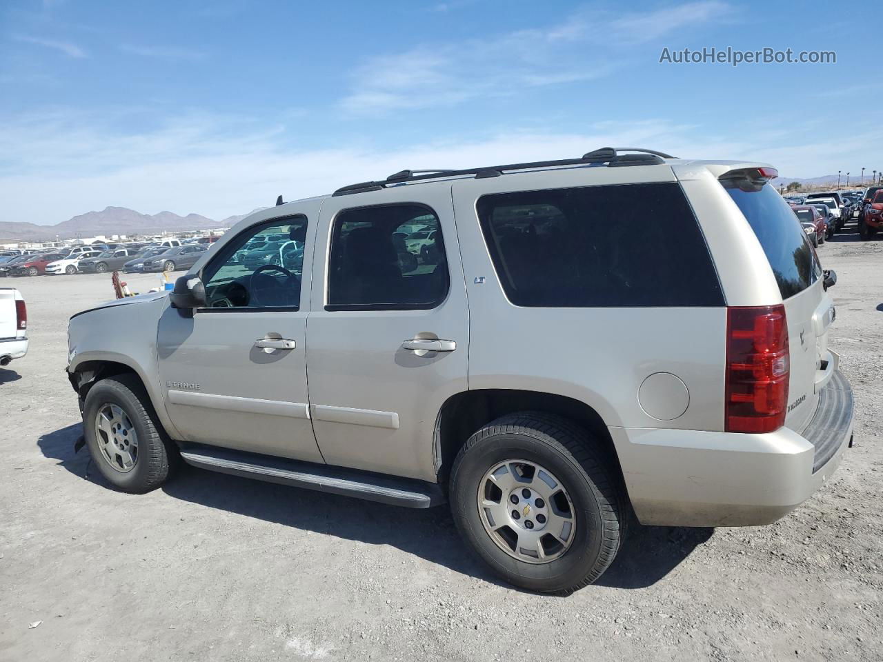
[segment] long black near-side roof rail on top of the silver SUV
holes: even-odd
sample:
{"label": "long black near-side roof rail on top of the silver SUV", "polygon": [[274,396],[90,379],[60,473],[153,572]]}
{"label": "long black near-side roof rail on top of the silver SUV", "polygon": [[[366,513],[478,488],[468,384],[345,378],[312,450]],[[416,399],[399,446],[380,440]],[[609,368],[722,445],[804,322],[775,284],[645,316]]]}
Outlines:
{"label": "long black near-side roof rail on top of the silver SUV", "polygon": [[[638,154],[619,154],[620,152]],[[507,170],[527,170],[536,168],[556,168],[570,165],[586,165],[607,163],[608,167],[634,166],[634,165],[657,165],[663,163],[662,159],[673,159],[674,156],[664,152],[656,152],[652,149],[640,149],[638,147],[601,147],[593,152],[587,152],[578,159],[559,159],[557,161],[535,161],[526,163],[510,163],[509,165],[490,166],[484,168],[469,168],[462,170],[400,170],[384,180],[359,182],[349,184],[337,189],[333,195],[350,195],[351,193],[364,193],[369,191],[381,191],[390,184],[404,184],[405,182],[421,182],[439,177],[463,177],[472,175],[476,179],[485,177],[501,177]]]}

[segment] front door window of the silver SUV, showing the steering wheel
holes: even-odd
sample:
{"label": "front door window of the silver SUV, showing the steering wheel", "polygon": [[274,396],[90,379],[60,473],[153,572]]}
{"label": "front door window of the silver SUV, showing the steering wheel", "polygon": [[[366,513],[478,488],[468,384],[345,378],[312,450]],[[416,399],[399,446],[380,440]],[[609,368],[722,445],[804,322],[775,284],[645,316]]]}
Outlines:
{"label": "front door window of the silver SUV, showing the steering wheel", "polygon": [[298,310],[305,240],[305,216],[244,230],[203,270],[208,307]]}

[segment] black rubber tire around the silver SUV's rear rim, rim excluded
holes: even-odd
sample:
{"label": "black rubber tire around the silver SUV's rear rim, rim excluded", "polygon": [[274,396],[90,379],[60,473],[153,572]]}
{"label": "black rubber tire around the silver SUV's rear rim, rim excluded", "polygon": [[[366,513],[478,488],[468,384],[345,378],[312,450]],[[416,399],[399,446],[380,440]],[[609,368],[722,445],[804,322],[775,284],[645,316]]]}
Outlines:
{"label": "black rubber tire around the silver SUV's rear rim, rim excluded", "polygon": [[[480,481],[495,463],[535,462],[551,471],[573,502],[574,538],[555,560],[517,560],[494,543],[479,515]],[[450,476],[454,523],[496,575],[530,591],[569,595],[597,580],[625,535],[629,508],[612,458],[582,428],[541,412],[509,414],[482,427],[457,454]]]}

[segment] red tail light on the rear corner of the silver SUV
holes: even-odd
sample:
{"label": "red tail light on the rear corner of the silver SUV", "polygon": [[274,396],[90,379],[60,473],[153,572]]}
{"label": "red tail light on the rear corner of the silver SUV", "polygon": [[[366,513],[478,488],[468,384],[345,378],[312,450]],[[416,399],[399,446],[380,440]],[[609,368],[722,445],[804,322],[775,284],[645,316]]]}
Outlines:
{"label": "red tail light on the rear corner of the silver SUV", "polygon": [[727,309],[728,433],[771,433],[785,425],[789,382],[784,305]]}

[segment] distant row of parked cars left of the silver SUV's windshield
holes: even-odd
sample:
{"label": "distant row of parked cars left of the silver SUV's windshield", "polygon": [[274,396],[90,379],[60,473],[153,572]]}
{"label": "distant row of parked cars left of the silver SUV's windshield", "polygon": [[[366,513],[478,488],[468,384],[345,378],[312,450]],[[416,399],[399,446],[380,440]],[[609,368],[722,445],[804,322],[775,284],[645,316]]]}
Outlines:
{"label": "distant row of parked cars left of the silver SUV's windshield", "polygon": [[162,272],[187,269],[211,243],[182,244],[167,239],[162,244],[98,244],[74,246],[52,252],[0,254],[0,276]]}

